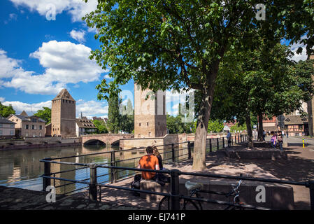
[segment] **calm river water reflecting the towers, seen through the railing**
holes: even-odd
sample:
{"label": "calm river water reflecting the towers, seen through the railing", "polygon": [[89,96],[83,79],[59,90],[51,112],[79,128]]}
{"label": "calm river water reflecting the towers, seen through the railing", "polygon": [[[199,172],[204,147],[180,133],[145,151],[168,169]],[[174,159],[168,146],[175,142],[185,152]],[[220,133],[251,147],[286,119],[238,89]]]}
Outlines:
{"label": "calm river water reflecting the towers, seen through the railing", "polygon": [[[117,151],[118,146],[71,146],[71,147],[59,147],[59,148],[39,148],[39,149],[27,149],[27,150],[10,150],[0,151],[0,185],[24,188],[29,190],[43,190],[43,179],[40,177],[43,174],[43,162],[39,162],[43,158],[62,158],[72,155],[85,155],[90,153],[101,153],[108,151]],[[143,151],[134,151],[129,153],[115,153],[115,160],[127,160],[134,158],[134,160],[128,160],[125,162],[119,162],[118,165],[124,167],[135,167],[138,162],[138,157],[145,153]],[[123,154],[123,155],[122,155]],[[76,163],[90,163],[110,162],[110,153],[104,153],[100,155],[87,155],[76,158],[66,158],[62,160],[56,160],[62,162],[76,162]],[[51,165],[51,172],[61,172],[69,169],[80,168],[73,165]],[[74,172],[66,172],[62,174],[55,174],[55,177],[64,179],[76,179],[84,180],[90,177],[90,169],[79,169]],[[97,169],[97,176],[108,174],[108,169]],[[118,176],[126,176],[130,174],[129,171],[119,172]],[[110,175],[99,177],[97,181],[106,182],[110,181]],[[52,181],[53,183],[53,181]],[[55,186],[69,183],[66,181],[55,181]],[[78,188],[85,187],[84,184],[72,184],[57,188],[57,193],[69,192]]]}

